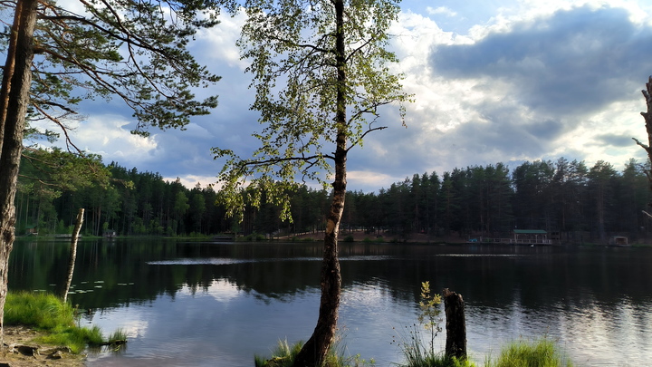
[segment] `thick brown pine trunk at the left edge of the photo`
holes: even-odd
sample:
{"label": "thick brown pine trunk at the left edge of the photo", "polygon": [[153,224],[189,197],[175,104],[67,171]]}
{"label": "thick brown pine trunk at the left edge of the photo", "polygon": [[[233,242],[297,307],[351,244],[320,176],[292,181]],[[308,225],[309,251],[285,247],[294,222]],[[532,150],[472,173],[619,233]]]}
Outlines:
{"label": "thick brown pine trunk at the left edge of the photo", "polygon": [[[34,59],[34,24],[36,23],[36,0],[18,0],[12,26],[5,71],[14,70],[10,82],[3,82],[0,96],[0,115],[4,121],[2,151],[0,152],[0,345],[4,327],[4,309],[7,294],[7,270],[9,254],[14,246],[16,182],[23,149],[23,131],[29,90],[32,83],[32,60]],[[6,96],[6,97],[5,97]]]}

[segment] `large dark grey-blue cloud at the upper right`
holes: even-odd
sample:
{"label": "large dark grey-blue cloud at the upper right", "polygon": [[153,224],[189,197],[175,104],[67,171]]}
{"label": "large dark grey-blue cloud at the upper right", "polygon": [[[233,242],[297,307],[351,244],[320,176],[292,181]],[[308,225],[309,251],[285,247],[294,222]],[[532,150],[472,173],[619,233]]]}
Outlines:
{"label": "large dark grey-blue cloud at the upper right", "polygon": [[652,29],[627,11],[588,6],[517,24],[475,44],[441,45],[435,74],[498,78],[521,102],[552,114],[586,113],[631,97],[652,73]]}

